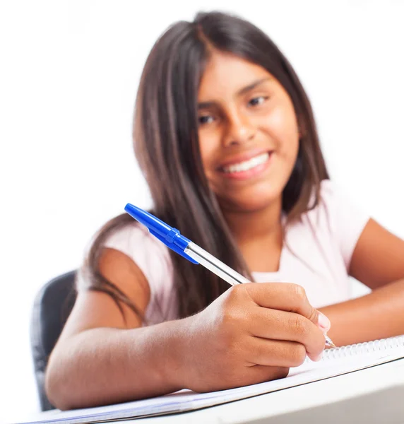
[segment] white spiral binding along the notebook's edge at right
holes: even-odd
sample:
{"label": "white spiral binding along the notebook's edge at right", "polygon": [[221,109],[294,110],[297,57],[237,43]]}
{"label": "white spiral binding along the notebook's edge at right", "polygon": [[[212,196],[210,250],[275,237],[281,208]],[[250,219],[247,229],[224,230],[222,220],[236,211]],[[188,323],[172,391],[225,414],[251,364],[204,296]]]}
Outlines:
{"label": "white spiral binding along the notebook's edge at right", "polygon": [[381,338],[380,340],[366,341],[340,348],[327,349],[323,353],[322,360],[346,358],[352,355],[364,355],[367,353],[385,351],[386,349],[403,348],[404,336]]}

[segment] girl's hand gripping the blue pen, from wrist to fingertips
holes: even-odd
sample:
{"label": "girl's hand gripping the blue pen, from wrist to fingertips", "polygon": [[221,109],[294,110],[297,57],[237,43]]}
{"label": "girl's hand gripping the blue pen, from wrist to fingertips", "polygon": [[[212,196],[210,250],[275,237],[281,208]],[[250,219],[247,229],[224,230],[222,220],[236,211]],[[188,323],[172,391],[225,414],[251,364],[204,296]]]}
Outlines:
{"label": "girl's hand gripping the blue pen, from wrist to fingertips", "polygon": [[318,323],[319,312],[295,284],[234,285],[177,323],[172,351],[178,385],[216,391],[286,377],[307,356],[321,358]]}

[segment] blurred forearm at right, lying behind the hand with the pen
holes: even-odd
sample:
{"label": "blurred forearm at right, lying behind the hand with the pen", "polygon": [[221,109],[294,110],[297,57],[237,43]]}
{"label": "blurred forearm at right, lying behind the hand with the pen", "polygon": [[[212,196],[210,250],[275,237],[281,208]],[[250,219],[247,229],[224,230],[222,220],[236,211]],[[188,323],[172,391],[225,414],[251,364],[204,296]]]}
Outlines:
{"label": "blurred forearm at right, lying behind the hand with the pen", "polygon": [[328,335],[337,346],[404,334],[404,280],[320,310],[331,320]]}

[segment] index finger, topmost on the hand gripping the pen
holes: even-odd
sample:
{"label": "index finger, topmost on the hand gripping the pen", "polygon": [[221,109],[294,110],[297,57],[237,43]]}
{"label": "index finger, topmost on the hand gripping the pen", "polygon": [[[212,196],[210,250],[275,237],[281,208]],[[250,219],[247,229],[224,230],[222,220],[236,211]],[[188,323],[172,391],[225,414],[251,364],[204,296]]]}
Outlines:
{"label": "index finger, topmost on the hand gripping the pen", "polygon": [[328,331],[331,324],[325,315],[311,306],[306,291],[301,285],[292,283],[248,283],[245,290],[257,305],[261,307],[296,312]]}

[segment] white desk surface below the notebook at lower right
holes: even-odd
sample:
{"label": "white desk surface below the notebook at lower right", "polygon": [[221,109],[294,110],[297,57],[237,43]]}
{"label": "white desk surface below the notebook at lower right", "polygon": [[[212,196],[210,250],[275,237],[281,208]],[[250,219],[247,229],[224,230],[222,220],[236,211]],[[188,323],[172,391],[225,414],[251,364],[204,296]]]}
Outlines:
{"label": "white desk surface below the notebook at lower right", "polygon": [[198,411],[108,423],[404,424],[404,358]]}

